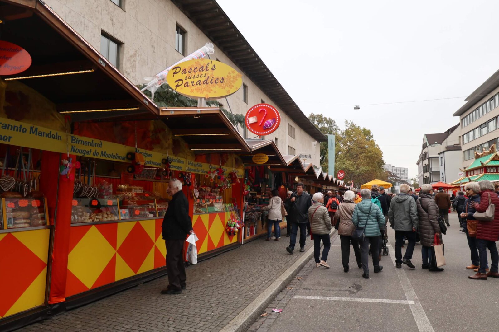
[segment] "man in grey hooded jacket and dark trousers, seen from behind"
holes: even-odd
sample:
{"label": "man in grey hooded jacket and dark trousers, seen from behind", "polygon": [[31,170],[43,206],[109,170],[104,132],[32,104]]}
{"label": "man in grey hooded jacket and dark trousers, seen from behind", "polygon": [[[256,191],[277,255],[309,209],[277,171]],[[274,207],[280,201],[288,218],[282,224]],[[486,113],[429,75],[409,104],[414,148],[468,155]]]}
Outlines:
{"label": "man in grey hooded jacket and dark trousers, seen from behind", "polygon": [[[388,220],[390,226],[395,229],[395,264],[397,268],[402,268],[402,263],[410,268],[415,268],[411,263],[412,253],[416,245],[416,229],[418,228],[418,208],[416,201],[408,194],[411,188],[400,185],[400,194],[395,197],[388,210]],[[407,238],[407,245],[404,259],[402,260],[402,244],[404,237]]]}

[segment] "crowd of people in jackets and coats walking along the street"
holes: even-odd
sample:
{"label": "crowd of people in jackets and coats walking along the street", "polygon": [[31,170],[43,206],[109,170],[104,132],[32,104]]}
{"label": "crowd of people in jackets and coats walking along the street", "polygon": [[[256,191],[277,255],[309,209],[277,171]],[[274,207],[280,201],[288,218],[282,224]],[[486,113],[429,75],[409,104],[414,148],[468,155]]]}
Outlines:
{"label": "crowd of people in jackets and coats walking along the street", "polygon": [[[421,267],[431,272],[441,272],[444,269],[438,267],[432,257],[432,247],[436,238],[443,243],[442,233],[450,226],[449,211],[452,207],[458,213],[462,227],[460,230],[466,233],[471,250],[471,265],[466,268],[473,269],[476,274],[469,278],[499,278],[496,246],[499,240],[499,207],[498,210],[493,209],[499,204],[499,184],[494,186],[490,181],[471,182],[465,186],[466,193],[458,192],[457,196],[452,197],[443,188],[434,190],[430,184],[422,185],[420,192],[414,192],[409,185],[402,184],[399,194],[388,194],[382,186],[372,186],[359,193],[348,190],[340,196],[337,191],[327,191],[324,194],[315,193],[312,197],[302,183],[298,183],[296,188],[296,192],[288,192],[286,201],[279,205],[287,213],[287,236],[290,236],[290,240],[286,251],[294,253],[298,229],[300,252],[305,250],[305,240],[311,234],[317,267],[330,267],[327,263],[331,247],[329,234],[334,227],[340,236],[344,272],[350,268],[350,247],[353,248],[357,266],[363,269],[362,277],[369,278],[369,254],[372,256],[374,273],[382,271],[381,248],[383,238],[387,238],[386,227],[389,224],[395,230],[396,268],[402,268],[402,265],[416,268],[411,259],[416,242],[420,242]],[[269,209],[272,211],[273,208]],[[275,211],[277,213],[277,208]],[[481,217],[487,215],[488,219],[475,219],[476,213]],[[267,238],[270,238],[270,232],[271,225]],[[362,233],[360,237],[359,232]],[[406,241],[407,247],[402,255]],[[490,270],[487,250],[492,260]]]}

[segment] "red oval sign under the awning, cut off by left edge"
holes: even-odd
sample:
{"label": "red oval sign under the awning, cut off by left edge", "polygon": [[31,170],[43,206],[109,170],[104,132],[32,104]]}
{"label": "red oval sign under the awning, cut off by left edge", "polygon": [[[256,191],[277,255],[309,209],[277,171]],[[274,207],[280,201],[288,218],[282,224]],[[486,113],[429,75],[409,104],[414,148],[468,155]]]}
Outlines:
{"label": "red oval sign under the awning, cut off by left edge", "polygon": [[0,40],[0,75],[14,75],[31,66],[31,56],[25,49],[8,41]]}

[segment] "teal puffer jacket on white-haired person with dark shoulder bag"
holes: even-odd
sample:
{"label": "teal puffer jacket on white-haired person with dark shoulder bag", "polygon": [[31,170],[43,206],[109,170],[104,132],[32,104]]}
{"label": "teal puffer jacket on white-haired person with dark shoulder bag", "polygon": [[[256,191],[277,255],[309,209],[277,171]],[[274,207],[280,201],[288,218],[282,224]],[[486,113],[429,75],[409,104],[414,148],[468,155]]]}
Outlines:
{"label": "teal puffer jacket on white-haired person with dark shoulder bag", "polygon": [[[369,209],[371,212],[369,213]],[[385,224],[383,212],[376,204],[372,204],[370,199],[363,199],[362,202],[353,209],[352,222],[355,226],[365,226],[365,236],[379,236],[379,227]]]}

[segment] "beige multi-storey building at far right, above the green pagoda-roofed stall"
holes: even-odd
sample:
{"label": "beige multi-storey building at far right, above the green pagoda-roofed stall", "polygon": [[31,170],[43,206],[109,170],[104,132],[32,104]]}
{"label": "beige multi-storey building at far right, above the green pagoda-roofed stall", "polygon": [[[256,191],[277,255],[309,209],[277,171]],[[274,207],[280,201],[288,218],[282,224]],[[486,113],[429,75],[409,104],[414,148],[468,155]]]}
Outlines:
{"label": "beige multi-storey building at far right, above the green pagoda-roofed stall", "polygon": [[[462,167],[475,160],[475,152],[489,150],[499,143],[499,71],[478,87],[453,115],[460,118]],[[456,178],[457,179],[457,178]]]}

